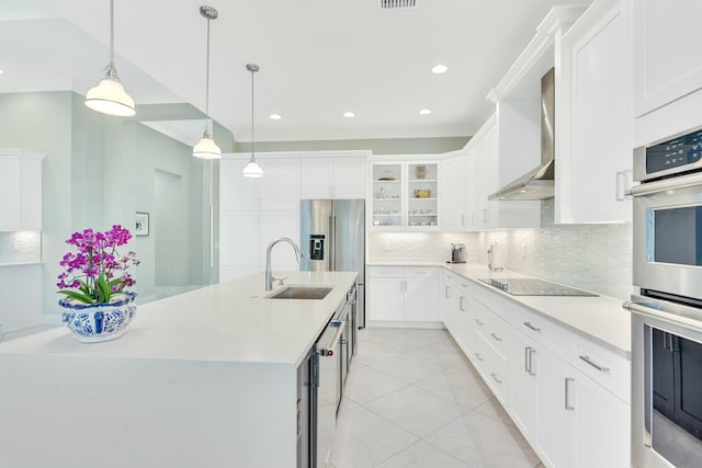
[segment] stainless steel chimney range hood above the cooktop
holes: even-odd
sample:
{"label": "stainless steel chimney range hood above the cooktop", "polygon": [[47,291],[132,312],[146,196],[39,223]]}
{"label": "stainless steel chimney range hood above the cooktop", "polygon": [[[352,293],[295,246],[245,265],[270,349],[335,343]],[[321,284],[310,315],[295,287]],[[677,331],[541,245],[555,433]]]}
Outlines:
{"label": "stainless steel chimney range hood above the cooktop", "polygon": [[553,198],[554,176],[554,69],[541,79],[541,165],[498,190],[488,199]]}

